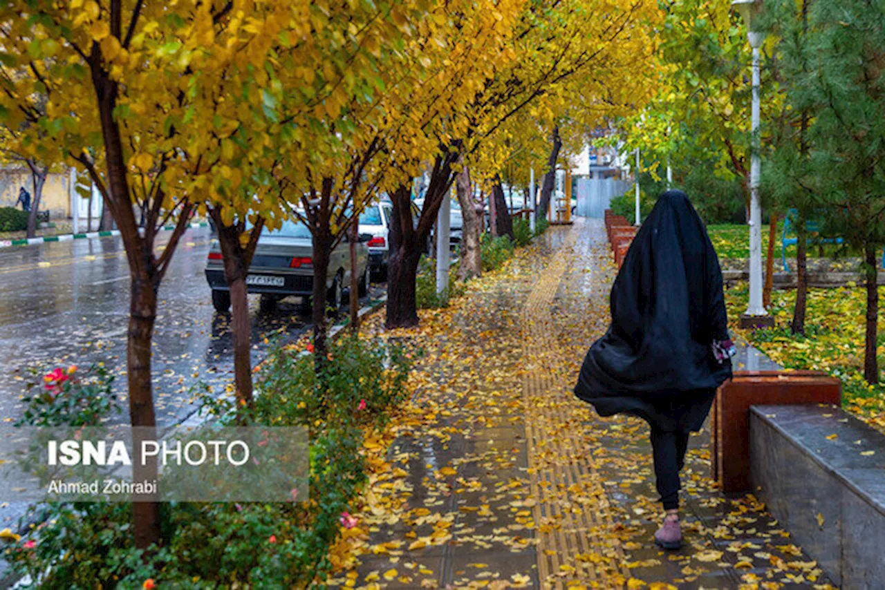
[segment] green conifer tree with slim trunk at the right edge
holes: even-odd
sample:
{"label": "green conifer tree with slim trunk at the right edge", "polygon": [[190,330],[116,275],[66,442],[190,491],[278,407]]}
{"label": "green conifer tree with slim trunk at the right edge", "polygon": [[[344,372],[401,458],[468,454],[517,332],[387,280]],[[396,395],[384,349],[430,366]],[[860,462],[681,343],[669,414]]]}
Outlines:
{"label": "green conifer tree with slim trunk at the right edge", "polygon": [[805,23],[801,8],[793,19],[793,27],[804,27],[797,46],[790,50],[789,34],[781,36],[790,100],[799,113],[799,141],[792,156],[790,149],[781,149],[778,158],[781,169],[794,167],[784,176],[791,176],[799,189],[795,203],[820,216],[826,234],[843,236],[863,254],[864,377],[878,383],[876,250],[885,243],[885,1],[812,1],[805,7]]}

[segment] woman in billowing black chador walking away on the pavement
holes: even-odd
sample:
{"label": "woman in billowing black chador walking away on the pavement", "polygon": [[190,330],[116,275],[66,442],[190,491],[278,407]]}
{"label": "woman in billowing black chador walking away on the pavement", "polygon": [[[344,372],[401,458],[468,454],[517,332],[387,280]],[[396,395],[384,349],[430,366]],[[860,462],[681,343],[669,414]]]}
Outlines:
{"label": "woman in billowing black chador walking away on the pavement", "polygon": [[651,426],[664,525],[655,541],[681,546],[679,471],[716,388],[731,377],[722,272],[704,223],[678,190],[660,195],[612,286],[612,326],[590,347],[574,393],[600,416]]}

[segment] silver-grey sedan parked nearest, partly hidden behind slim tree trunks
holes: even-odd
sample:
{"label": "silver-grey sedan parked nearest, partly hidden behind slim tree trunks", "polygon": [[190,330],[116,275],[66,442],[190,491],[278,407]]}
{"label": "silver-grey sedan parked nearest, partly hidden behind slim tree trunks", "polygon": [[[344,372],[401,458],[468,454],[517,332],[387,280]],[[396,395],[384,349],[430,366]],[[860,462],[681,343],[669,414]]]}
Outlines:
{"label": "silver-grey sedan parked nearest, partly hidden behind slim tree trunks", "polygon": [[[368,293],[369,257],[366,242],[360,235],[357,245],[359,295]],[[206,261],[206,280],[212,287],[212,304],[218,311],[230,308],[230,292],[224,276],[221,249],[212,241]],[[344,303],[343,289],[350,285],[350,245],[342,240],[329,257],[327,305],[336,310]],[[299,221],[286,221],[278,230],[265,229],[258,237],[246,285],[250,293],[261,294],[261,308],[270,309],[277,301],[297,295],[303,302],[313,295],[313,245],[311,231]]]}

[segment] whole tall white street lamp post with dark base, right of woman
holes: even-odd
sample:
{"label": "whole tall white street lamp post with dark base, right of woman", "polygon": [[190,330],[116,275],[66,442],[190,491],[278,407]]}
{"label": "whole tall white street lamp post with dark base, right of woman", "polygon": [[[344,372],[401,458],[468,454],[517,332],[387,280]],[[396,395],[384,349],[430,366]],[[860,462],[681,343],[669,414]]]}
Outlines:
{"label": "whole tall white street lamp post with dark base, right of woman", "polygon": [[759,46],[763,34],[754,30],[754,20],[762,8],[761,0],[733,0],[732,7],[738,11],[747,25],[747,39],[753,50],[752,78],[752,137],[750,139],[750,304],[741,316],[741,327],[773,326],[774,318],[768,315],[762,304],[762,208],[759,205]]}

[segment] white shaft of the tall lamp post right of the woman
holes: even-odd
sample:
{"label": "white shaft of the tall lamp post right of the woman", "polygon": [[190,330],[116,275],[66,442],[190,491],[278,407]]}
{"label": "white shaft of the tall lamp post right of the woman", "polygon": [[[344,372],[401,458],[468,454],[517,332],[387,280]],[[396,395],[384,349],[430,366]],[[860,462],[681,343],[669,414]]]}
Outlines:
{"label": "white shaft of the tall lamp post right of the woman", "polygon": [[762,304],[762,207],[759,205],[759,45],[762,35],[750,33],[753,48],[752,159],[750,161],[750,305],[748,316],[765,316]]}

